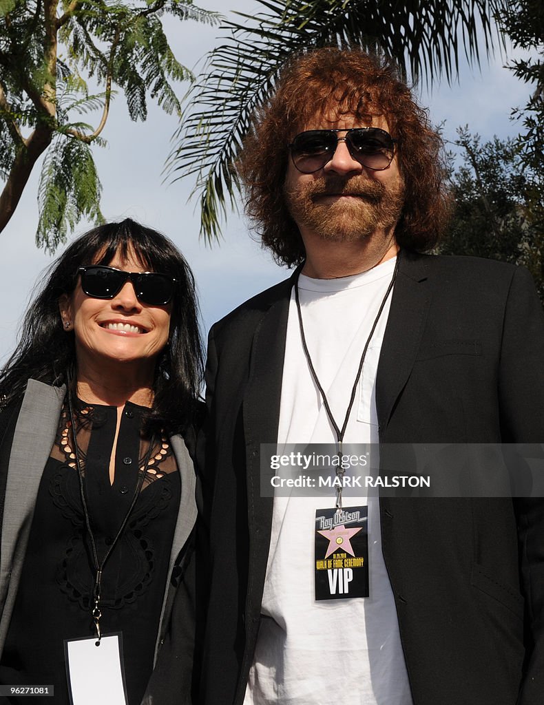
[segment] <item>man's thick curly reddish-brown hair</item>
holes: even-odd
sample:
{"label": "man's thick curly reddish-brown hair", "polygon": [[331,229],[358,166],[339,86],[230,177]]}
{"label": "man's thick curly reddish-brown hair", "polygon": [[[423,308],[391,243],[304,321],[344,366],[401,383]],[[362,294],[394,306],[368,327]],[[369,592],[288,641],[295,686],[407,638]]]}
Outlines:
{"label": "man's thick curly reddish-brown hair", "polygon": [[401,247],[434,247],[447,223],[442,139],[416,103],[397,68],[361,49],[313,49],[287,64],[270,101],[256,111],[237,171],[246,192],[246,212],[263,247],[292,266],[305,256],[296,223],[284,198],[289,143],[315,116],[353,116],[368,124],[387,119],[398,140],[397,160],[405,182],[404,208],[395,228]]}

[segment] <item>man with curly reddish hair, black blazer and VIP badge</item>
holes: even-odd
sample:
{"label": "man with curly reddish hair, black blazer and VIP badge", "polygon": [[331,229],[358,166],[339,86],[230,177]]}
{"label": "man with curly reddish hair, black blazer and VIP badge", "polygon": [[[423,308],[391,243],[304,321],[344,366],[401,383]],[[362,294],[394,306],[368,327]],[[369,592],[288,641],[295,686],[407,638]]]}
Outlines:
{"label": "man with curly reddish hair, black blazer and VIP badge", "polygon": [[394,69],[361,51],[298,58],[255,118],[248,213],[299,266],[210,333],[200,703],[542,700],[540,501],[344,498],[367,518],[351,531],[368,585],[351,596],[316,577],[334,491],[261,494],[262,443],[544,441],[531,278],[418,254],[447,219],[440,150]]}

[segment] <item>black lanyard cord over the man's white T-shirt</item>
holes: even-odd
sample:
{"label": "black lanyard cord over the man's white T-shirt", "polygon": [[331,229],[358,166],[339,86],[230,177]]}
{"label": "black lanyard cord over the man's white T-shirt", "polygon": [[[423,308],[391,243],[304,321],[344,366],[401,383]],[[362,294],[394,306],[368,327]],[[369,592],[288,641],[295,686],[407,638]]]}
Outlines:
{"label": "black lanyard cord over the man's white T-shirt", "polygon": [[[378,324],[378,321],[380,321],[380,317],[382,315],[383,309],[385,307],[385,303],[387,302],[387,298],[389,297],[389,294],[392,291],[392,288],[395,283],[395,279],[397,278],[397,274],[399,272],[399,261],[400,261],[400,250],[397,253],[397,262],[395,262],[394,270],[393,270],[393,276],[391,278],[391,281],[389,282],[389,286],[387,287],[387,291],[385,292],[384,298],[382,299],[382,302],[380,304],[380,308],[378,309],[378,312],[376,314],[376,317],[374,319],[374,322],[372,324],[372,328],[370,329],[370,333],[368,334],[368,338],[366,339],[365,347],[363,348],[363,353],[361,355],[361,360],[359,361],[359,367],[357,369],[357,374],[355,376],[355,381],[353,382],[353,386],[351,388],[351,396],[349,398],[349,404],[346,410],[346,415],[344,417],[344,423],[342,424],[342,427],[340,429],[339,425],[336,422],[336,419],[334,419],[334,416],[332,415],[332,410],[329,404],[329,400],[327,399],[327,395],[325,394],[325,390],[323,389],[319,378],[318,378],[318,373],[315,372],[315,367],[313,366],[312,358],[310,356],[310,350],[308,350],[308,344],[306,343],[306,335],[304,333],[304,324],[302,321],[302,309],[301,309],[301,301],[300,297],[298,295],[298,277],[300,276],[300,271],[296,275],[296,280],[294,283],[295,287],[295,301],[296,301],[296,311],[298,313],[298,326],[301,329],[301,340],[302,340],[302,347],[304,350],[304,355],[306,356],[306,360],[308,362],[308,367],[310,368],[310,372],[312,374],[313,381],[315,382],[316,386],[319,389],[323,405],[325,406],[325,411],[327,412],[327,418],[329,419],[330,423],[332,424],[332,427],[334,428],[334,432],[336,433],[337,436],[337,455],[339,460],[341,460],[341,455],[342,455],[342,443],[344,441],[344,434],[346,433],[346,428],[348,425],[349,421],[349,415],[351,414],[351,407],[353,407],[353,401],[355,400],[355,395],[357,393],[357,385],[358,381],[361,378],[361,372],[363,371],[363,364],[365,362],[365,357],[366,357],[366,352],[368,350],[368,345],[370,345],[370,341],[372,340],[372,336],[374,335],[374,331],[376,330],[376,326]],[[344,468],[342,467],[342,462],[339,462],[337,465],[337,477],[343,477],[344,476]],[[336,501],[336,510],[339,511],[342,508],[342,488],[341,488],[341,483],[337,486],[337,501]]]}

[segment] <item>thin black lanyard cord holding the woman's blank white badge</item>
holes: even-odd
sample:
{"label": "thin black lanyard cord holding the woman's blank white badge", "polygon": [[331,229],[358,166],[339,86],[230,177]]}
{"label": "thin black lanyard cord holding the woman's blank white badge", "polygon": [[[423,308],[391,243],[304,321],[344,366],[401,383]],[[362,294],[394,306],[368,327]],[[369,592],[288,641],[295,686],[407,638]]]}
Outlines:
{"label": "thin black lanyard cord holding the woman's blank white badge", "polygon": [[96,577],[95,577],[95,587],[92,591],[92,597],[94,600],[94,605],[91,610],[91,615],[92,615],[92,620],[95,623],[95,628],[97,630],[97,646],[100,644],[100,640],[102,639],[102,632],[100,631],[100,618],[102,617],[102,611],[100,611],[99,608],[99,602],[100,602],[100,589],[101,589],[101,583],[102,583],[102,571],[104,570],[104,565],[106,565],[106,562],[111,556],[111,552],[114,550],[117,542],[121,538],[121,535],[123,534],[123,531],[126,527],[126,523],[128,522],[129,517],[131,516],[132,510],[134,508],[134,505],[136,501],[138,500],[138,496],[140,495],[140,490],[142,489],[143,485],[143,480],[145,478],[145,473],[147,472],[147,465],[149,465],[149,461],[151,458],[151,452],[152,448],[155,445],[155,434],[152,434],[151,440],[150,440],[150,445],[149,448],[147,448],[147,454],[145,455],[145,462],[143,465],[143,471],[140,473],[140,477],[138,478],[138,484],[136,485],[136,489],[133,494],[133,498],[131,501],[131,505],[128,508],[128,511],[121,522],[121,526],[119,527],[119,531],[116,534],[116,537],[114,540],[111,542],[111,545],[109,546],[106,555],[104,558],[102,558],[102,561],[98,560],[98,552],[97,552],[97,546],[96,546],[96,541],[95,541],[95,535],[92,533],[92,528],[90,525],[90,515],[89,515],[89,510],[87,508],[87,500],[85,499],[85,488],[83,486],[83,470],[81,468],[81,462],[80,462],[80,456],[79,456],[79,447],[78,447],[78,439],[75,434],[75,423],[74,423],[74,416],[73,416],[73,405],[72,405],[72,392],[71,392],[71,374],[68,372],[67,374],[67,379],[68,379],[68,412],[70,415],[70,423],[72,427],[72,440],[73,440],[73,448],[74,448],[74,453],[75,453],[75,465],[78,467],[78,477],[79,477],[79,493],[81,497],[81,504],[83,505],[83,515],[85,516],[85,527],[87,528],[87,534],[90,539],[90,544],[91,544],[91,550],[92,550],[92,560],[93,560],[93,568],[96,570]]}

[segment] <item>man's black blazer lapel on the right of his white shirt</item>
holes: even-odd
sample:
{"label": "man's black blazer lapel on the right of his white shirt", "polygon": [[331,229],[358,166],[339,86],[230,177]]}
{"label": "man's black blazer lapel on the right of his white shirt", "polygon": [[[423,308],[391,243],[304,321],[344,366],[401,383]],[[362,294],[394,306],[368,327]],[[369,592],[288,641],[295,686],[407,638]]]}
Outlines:
{"label": "man's black blazer lapel on the right of his white shirt", "polygon": [[380,440],[418,353],[430,304],[427,277],[425,257],[403,250],[377,368],[376,407]]}

